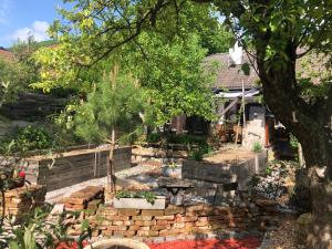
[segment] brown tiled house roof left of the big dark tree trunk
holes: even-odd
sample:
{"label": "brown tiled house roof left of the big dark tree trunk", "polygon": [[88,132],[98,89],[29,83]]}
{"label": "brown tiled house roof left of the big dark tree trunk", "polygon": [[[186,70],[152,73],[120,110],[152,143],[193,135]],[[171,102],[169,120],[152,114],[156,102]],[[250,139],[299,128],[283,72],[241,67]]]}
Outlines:
{"label": "brown tiled house roof left of the big dark tree trunk", "polygon": [[[216,53],[205,59],[205,63],[207,64],[211,64],[214,62],[218,63],[217,80],[212,85],[215,89],[238,90],[242,89],[242,82],[245,89],[257,87],[257,81],[259,77],[251,65],[250,74],[245,75],[241,71],[241,65],[232,65],[230,63],[228,53]],[[250,64],[246,53],[243,53],[242,63]]]}

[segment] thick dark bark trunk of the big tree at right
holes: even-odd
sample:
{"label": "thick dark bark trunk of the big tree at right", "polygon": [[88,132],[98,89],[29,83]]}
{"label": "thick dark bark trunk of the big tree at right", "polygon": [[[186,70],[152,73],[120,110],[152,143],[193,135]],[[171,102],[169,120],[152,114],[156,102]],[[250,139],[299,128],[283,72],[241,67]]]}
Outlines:
{"label": "thick dark bark trunk of the big tree at right", "polygon": [[312,197],[312,226],[308,230],[307,247],[331,249],[332,106],[322,101],[309,104],[302,98],[295,79],[295,50],[290,42],[283,51],[290,55],[289,61],[273,58],[267,62],[266,48],[260,43],[257,65],[264,102],[302,145]]}

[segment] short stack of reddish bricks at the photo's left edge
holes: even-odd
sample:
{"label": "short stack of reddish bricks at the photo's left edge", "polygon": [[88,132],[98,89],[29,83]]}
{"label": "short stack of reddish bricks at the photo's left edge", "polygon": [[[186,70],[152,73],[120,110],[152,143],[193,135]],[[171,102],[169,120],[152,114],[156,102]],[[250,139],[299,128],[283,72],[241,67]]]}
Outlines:
{"label": "short stack of reddish bricks at the photo's left edge", "polygon": [[[25,212],[30,212],[35,207],[43,206],[45,195],[46,188],[41,185],[27,185],[10,189],[4,193],[4,214],[19,220]],[[2,214],[2,206],[0,207],[0,214]]]}

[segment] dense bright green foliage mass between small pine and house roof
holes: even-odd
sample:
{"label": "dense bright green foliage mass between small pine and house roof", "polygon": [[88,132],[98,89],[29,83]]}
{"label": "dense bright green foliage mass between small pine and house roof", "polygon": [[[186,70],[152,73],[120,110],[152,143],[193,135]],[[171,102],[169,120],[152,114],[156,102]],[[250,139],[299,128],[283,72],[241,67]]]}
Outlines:
{"label": "dense bright green foliage mass between small pine and house roof", "polygon": [[214,120],[210,91],[214,69],[203,69],[207,51],[199,46],[199,37],[191,34],[186,41],[174,38],[168,44],[159,34],[143,32],[138,42],[148,60],[128,45],[125,64],[147,90],[157,124],[184,113]]}

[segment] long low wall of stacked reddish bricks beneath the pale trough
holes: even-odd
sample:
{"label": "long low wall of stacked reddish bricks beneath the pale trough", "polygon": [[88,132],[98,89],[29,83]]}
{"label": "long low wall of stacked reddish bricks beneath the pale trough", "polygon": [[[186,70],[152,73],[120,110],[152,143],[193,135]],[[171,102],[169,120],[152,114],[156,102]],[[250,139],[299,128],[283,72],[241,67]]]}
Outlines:
{"label": "long low wall of stacked reddish bricks beneath the pale trough", "polygon": [[278,222],[273,212],[246,201],[235,207],[169,205],[165,210],[115,209],[104,206],[81,212],[76,220],[71,219],[71,235],[80,234],[82,219],[90,221],[94,237],[147,239],[249,232],[266,230]]}

